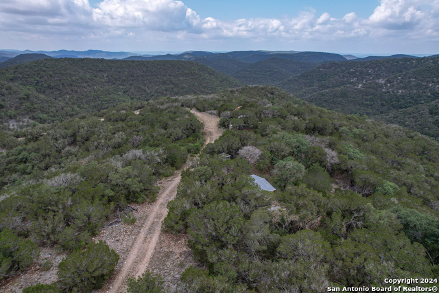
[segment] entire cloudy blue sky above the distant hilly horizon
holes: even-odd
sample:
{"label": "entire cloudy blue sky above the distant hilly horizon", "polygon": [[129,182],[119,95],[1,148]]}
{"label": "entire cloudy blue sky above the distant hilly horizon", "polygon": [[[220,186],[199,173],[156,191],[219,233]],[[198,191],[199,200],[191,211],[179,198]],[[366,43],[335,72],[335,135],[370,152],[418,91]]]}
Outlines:
{"label": "entire cloudy blue sky above the distant hilly horizon", "polygon": [[2,49],[438,54],[439,0],[1,0]]}

